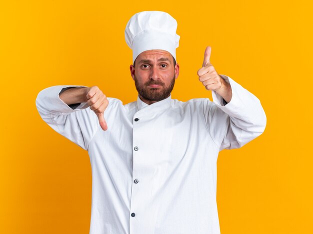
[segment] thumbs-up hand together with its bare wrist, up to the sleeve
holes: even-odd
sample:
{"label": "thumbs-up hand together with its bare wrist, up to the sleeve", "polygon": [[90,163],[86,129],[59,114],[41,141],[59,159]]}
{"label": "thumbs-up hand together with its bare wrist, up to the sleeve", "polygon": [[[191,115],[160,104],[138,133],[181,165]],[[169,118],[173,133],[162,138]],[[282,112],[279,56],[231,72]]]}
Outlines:
{"label": "thumbs-up hand together with its bare wrist, up to the sleeve", "polygon": [[204,52],[202,67],[198,69],[199,80],[207,90],[214,90],[224,98],[226,102],[231,99],[231,87],[215,70],[210,63],[211,47],[207,46]]}

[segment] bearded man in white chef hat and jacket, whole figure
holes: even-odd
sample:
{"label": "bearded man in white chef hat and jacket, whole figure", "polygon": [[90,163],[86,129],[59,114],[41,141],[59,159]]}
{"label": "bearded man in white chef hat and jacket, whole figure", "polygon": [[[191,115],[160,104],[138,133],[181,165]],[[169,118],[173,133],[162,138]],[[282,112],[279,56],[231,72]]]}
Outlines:
{"label": "bearded man in white chef hat and jacket, whole figure", "polygon": [[88,150],[91,234],[220,233],[218,152],[241,147],[265,128],[260,101],[216,72],[209,46],[197,75],[213,101],[171,98],[179,73],[176,26],[161,11],[128,21],[136,101],[123,104],[97,86],[58,85],[37,96],[43,120]]}

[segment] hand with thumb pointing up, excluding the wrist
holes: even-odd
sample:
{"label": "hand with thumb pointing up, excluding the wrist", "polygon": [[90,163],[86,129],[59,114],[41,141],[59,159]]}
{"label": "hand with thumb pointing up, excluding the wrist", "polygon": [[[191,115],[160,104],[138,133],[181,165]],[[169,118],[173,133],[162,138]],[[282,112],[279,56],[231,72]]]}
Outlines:
{"label": "hand with thumb pointing up, excluding the wrist", "polygon": [[207,46],[204,52],[204,59],[202,63],[202,67],[198,69],[197,75],[199,76],[199,80],[205,86],[207,90],[215,90],[221,88],[224,80],[220,75],[216,72],[214,66],[210,63],[210,55],[211,55],[211,47]]}

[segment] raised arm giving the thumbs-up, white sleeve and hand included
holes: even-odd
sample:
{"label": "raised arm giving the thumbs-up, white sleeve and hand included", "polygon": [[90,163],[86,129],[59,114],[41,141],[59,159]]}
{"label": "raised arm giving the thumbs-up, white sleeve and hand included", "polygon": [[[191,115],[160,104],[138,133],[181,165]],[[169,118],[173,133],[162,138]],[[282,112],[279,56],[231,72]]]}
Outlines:
{"label": "raised arm giving the thumbs-up, white sleeve and hand included", "polygon": [[209,131],[220,150],[241,147],[264,131],[266,115],[255,95],[216,72],[209,62],[210,51],[210,46],[206,47],[197,72],[205,88],[212,91],[215,103],[205,111]]}

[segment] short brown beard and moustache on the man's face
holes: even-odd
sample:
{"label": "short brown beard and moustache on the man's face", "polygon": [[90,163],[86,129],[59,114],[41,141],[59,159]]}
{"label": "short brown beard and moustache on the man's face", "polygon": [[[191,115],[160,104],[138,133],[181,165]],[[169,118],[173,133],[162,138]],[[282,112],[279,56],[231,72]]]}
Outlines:
{"label": "short brown beard and moustache on the man's face", "polygon": [[[146,100],[160,101],[168,97],[171,90],[173,89],[175,83],[175,74],[170,80],[168,86],[165,86],[165,84],[160,80],[149,79],[149,81],[147,81],[146,83],[140,83],[136,76],[134,77],[134,79],[136,89],[140,96],[142,96]],[[159,84],[161,86],[153,88],[148,86],[149,84]]]}

